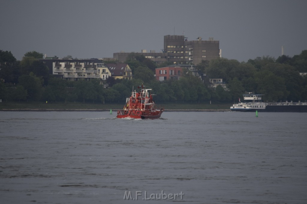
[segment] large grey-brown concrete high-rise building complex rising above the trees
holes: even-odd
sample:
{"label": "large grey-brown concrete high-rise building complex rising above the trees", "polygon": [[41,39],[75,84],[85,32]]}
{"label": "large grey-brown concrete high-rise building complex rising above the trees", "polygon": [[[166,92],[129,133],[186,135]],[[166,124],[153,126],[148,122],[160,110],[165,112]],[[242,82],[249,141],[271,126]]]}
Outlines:
{"label": "large grey-brown concrete high-rise building complex rising above the trees", "polygon": [[[113,53],[113,57],[119,62],[126,61],[130,53],[123,51]],[[184,35],[165,35],[164,48],[161,52],[155,50],[142,50],[140,53],[146,58],[151,59],[157,64],[163,62],[173,62],[174,64],[193,64],[197,65],[202,60],[212,60],[221,57],[220,41],[209,38],[202,40],[198,37],[196,40],[188,41]]]}

